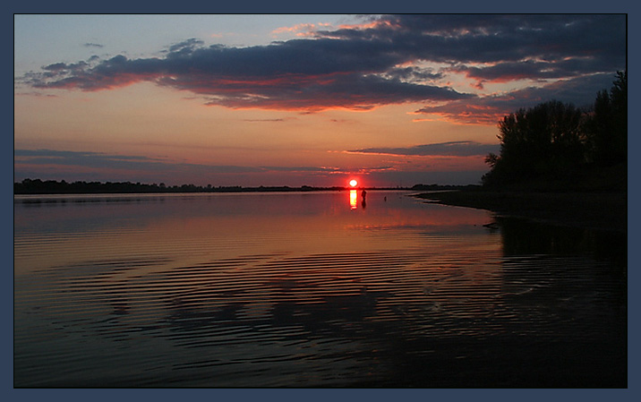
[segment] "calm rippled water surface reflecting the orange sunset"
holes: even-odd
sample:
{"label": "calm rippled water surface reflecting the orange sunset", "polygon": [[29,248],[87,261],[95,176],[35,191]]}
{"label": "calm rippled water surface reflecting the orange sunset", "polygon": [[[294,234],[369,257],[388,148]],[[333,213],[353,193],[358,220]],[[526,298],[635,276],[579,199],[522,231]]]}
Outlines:
{"label": "calm rippled water surface reflecting the orange sunset", "polygon": [[405,192],[14,198],[16,387],[627,387],[626,234]]}

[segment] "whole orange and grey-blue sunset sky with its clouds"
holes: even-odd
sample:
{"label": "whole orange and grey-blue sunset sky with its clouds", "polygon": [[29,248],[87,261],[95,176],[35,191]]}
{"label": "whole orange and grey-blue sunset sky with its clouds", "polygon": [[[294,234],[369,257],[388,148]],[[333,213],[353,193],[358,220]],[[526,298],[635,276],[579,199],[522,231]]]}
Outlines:
{"label": "whole orange and grey-blue sunset sky with its clouds", "polygon": [[626,22],[17,14],[13,179],[478,184],[503,115],[611,88]]}

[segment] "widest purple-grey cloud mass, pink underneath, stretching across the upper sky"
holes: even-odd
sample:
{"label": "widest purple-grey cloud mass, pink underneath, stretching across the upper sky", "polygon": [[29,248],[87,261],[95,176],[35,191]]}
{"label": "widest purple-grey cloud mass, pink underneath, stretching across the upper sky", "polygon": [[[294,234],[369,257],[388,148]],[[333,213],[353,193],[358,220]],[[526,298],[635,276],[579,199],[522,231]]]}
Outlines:
{"label": "widest purple-grey cloud mass, pink underneath, stretching across the upper sky", "polygon": [[[624,14],[406,14],[367,22],[268,46],[206,47],[191,38],[167,47],[161,57],[50,64],[21,81],[79,90],[152,81],[232,108],[367,110],[436,101],[455,110],[462,100],[484,100],[443,86],[439,82],[447,73],[464,73],[480,88],[487,82],[568,80],[626,67]],[[445,66],[436,71],[421,68],[423,63]],[[479,109],[469,112],[474,110]]]}

